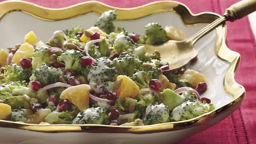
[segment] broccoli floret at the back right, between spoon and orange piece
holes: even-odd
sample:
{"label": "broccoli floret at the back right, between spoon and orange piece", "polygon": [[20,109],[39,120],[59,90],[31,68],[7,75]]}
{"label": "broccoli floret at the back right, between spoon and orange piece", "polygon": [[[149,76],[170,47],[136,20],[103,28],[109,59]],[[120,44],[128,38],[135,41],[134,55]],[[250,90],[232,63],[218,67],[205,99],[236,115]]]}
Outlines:
{"label": "broccoli floret at the back right, between spoon and orange piece", "polygon": [[145,26],[145,36],[142,36],[139,40],[140,44],[163,44],[166,42],[166,31],[158,23],[149,23]]}

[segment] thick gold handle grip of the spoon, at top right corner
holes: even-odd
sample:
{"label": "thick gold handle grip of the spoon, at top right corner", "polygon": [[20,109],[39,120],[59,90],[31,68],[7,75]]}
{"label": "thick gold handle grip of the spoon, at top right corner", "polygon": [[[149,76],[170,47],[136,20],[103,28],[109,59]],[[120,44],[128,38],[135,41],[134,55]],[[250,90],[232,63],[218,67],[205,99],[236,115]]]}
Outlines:
{"label": "thick gold handle grip of the spoon, at top right corner", "polygon": [[256,0],[242,0],[227,8],[224,16],[228,21],[235,21],[254,11],[256,11]]}

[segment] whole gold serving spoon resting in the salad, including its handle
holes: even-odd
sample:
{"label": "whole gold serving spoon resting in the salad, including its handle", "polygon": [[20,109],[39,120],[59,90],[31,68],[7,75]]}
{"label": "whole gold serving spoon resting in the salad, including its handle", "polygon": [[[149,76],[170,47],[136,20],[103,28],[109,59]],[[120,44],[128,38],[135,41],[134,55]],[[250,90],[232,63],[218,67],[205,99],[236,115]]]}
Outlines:
{"label": "whole gold serving spoon resting in the salad, including its handle", "polygon": [[146,47],[148,53],[153,53],[155,50],[158,50],[161,54],[161,60],[169,63],[169,70],[164,70],[164,73],[172,72],[173,70],[186,65],[190,60],[197,56],[198,53],[194,49],[194,44],[197,40],[225,21],[233,22],[254,11],[256,11],[256,0],[242,0],[226,9],[222,17],[216,19],[211,24],[183,41],[168,40],[161,45],[142,45]]}

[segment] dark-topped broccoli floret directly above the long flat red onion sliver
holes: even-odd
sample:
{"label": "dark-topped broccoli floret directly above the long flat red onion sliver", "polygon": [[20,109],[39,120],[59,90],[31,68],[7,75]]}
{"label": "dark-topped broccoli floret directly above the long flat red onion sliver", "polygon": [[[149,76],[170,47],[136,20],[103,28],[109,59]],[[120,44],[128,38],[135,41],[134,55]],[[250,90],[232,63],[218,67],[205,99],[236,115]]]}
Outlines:
{"label": "dark-topped broccoli floret directly above the long flat red onion sliver", "polygon": [[32,77],[33,80],[40,81],[42,84],[47,85],[60,82],[60,76],[67,79],[60,68],[48,67],[45,63],[43,63],[40,68],[34,71]]}

